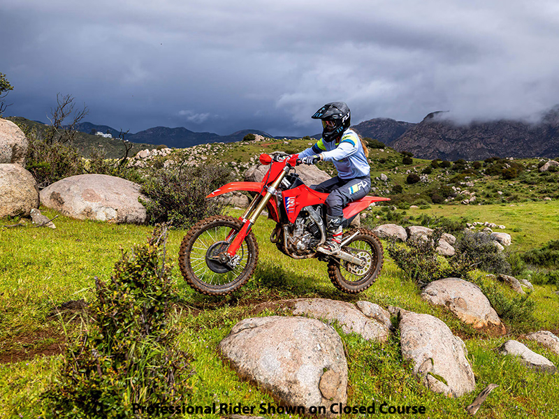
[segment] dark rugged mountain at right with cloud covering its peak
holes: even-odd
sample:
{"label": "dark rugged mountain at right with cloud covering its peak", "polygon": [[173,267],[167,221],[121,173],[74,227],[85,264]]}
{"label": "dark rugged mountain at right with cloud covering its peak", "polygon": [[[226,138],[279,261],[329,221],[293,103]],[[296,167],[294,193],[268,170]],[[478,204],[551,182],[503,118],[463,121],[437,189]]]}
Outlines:
{"label": "dark rugged mountain at right with cloud covering its peak", "polygon": [[500,119],[457,124],[447,112],[433,112],[409,128],[391,147],[421,159],[483,160],[559,156],[559,105],[537,123]]}

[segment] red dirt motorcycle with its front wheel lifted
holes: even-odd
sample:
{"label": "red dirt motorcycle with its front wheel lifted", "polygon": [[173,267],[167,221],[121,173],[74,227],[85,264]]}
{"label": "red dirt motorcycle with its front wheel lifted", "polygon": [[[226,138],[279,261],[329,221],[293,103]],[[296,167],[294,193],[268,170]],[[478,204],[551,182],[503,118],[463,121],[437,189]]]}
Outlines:
{"label": "red dirt motorcycle with its front wheel lifted", "polygon": [[[361,293],[379,276],[383,249],[379,239],[365,228],[350,230],[342,237],[341,250],[328,256],[317,252],[326,241],[328,193],[305,186],[296,173],[297,156],[261,154],[260,163],[270,169],[262,182],[232,182],[213,191],[213,198],[231,191],[249,191],[252,203],[242,216],[210,216],[198,221],[184,236],[179,251],[180,270],[187,283],[207,295],[226,295],[244,285],[256,267],[258,244],[252,226],[264,208],[276,222],[270,241],[294,259],[318,258],[328,263],[328,276],[344,293]],[[344,208],[351,219],[371,203],[389,200],[365,196]]]}

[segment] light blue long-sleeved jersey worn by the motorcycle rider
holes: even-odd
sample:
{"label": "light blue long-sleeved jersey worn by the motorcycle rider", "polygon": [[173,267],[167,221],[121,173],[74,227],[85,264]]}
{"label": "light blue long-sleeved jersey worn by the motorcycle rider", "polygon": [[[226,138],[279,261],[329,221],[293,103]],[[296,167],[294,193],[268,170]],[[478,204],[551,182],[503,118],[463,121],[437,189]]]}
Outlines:
{"label": "light blue long-sleeved jersey worn by the motorcycle rider", "polygon": [[315,145],[300,152],[299,159],[314,154],[322,154],[324,161],[334,163],[340,179],[354,179],[370,174],[371,168],[365,157],[361,140],[351,129],[344,131],[340,142],[326,142],[321,138]]}

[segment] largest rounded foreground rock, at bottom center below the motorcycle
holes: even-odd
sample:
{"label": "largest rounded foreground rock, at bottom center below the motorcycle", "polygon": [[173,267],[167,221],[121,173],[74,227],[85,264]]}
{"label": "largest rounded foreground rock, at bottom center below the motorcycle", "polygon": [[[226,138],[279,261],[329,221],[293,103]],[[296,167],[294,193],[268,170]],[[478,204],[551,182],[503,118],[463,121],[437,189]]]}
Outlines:
{"label": "largest rounded foreground rock, at bottom center below the motorcycle", "polygon": [[240,377],[256,382],[282,404],[308,409],[347,402],[342,339],[321,321],[245,318],[219,343],[219,352]]}

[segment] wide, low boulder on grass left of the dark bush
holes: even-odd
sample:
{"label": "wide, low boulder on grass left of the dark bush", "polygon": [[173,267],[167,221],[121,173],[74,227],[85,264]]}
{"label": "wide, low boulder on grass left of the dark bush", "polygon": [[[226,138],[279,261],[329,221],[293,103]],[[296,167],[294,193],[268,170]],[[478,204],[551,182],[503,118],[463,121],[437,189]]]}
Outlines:
{"label": "wide, low boulder on grass left of the dark bush", "polygon": [[143,223],[145,207],[140,185],[108,175],[66,177],[41,191],[41,203],[80,220]]}

